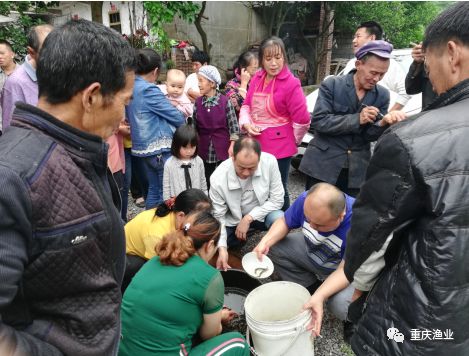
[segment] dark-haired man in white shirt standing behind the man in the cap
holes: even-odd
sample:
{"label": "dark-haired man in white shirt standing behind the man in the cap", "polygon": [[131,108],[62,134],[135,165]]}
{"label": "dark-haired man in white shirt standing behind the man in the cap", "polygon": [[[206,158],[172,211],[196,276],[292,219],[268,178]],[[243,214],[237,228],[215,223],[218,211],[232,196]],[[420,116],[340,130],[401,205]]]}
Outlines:
{"label": "dark-haired man in white shirt standing behind the man in the cap", "polygon": [[[370,41],[382,40],[383,29],[381,25],[375,21],[366,21],[358,25],[352,40],[353,53],[362,48],[363,45]],[[350,73],[355,69],[355,58],[350,59],[344,68],[343,74]],[[401,65],[392,57],[389,59],[389,68],[384,77],[379,81],[383,87],[392,90],[397,94],[396,102],[391,106],[390,111],[402,109],[410,100],[410,95],[405,89],[406,73]]]}

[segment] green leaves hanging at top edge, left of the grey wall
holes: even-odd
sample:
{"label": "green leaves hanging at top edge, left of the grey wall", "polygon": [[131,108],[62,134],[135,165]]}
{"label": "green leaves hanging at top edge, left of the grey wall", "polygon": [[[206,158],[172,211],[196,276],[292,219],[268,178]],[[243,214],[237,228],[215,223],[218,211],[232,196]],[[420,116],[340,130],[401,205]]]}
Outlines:
{"label": "green leaves hanging at top edge, left of the grey wall", "polygon": [[144,1],[143,6],[148,13],[151,32],[158,39],[154,47],[159,52],[167,52],[171,47],[163,25],[173,22],[176,16],[193,23],[200,10],[200,5],[192,1]]}

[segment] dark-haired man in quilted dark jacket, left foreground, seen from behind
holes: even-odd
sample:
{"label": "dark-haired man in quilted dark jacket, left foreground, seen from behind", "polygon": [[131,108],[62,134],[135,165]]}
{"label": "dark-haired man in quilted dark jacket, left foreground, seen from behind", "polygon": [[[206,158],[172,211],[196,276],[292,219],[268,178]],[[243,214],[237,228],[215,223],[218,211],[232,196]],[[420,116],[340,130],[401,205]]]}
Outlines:
{"label": "dark-haired man in quilted dark jacket, left foreground, seen from behind", "polygon": [[70,21],[37,66],[37,107],[0,138],[0,355],[115,355],[124,270],[109,137],[135,55],[117,32]]}

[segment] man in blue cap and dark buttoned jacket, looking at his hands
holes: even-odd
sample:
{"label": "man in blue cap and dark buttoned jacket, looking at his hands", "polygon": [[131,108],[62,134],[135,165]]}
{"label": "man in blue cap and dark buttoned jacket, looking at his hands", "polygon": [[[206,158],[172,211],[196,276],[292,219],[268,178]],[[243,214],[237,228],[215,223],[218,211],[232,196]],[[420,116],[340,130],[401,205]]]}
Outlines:
{"label": "man in blue cap and dark buttoned jacket, looking at his hands", "polygon": [[356,69],[321,84],[311,121],[314,138],[299,168],[307,175],[306,189],[327,182],[356,196],[370,160],[370,142],[405,119],[402,111],[387,113],[389,91],[377,85],[389,68],[391,51],[386,41],[370,41],[355,53]]}

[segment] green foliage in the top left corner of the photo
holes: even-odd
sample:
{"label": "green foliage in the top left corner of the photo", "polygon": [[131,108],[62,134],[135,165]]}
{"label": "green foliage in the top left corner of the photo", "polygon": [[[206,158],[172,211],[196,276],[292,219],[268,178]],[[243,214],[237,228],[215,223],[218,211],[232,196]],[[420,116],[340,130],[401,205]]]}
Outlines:
{"label": "green foliage in the top left corner of the photo", "polygon": [[47,10],[44,2],[37,1],[1,1],[0,14],[9,16],[17,11],[19,18],[16,22],[0,26],[0,38],[8,40],[18,57],[26,55],[27,33],[29,28],[43,23],[41,19],[33,19],[25,12],[40,13]]}

